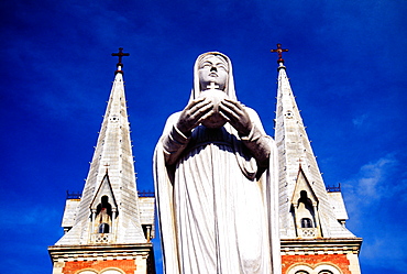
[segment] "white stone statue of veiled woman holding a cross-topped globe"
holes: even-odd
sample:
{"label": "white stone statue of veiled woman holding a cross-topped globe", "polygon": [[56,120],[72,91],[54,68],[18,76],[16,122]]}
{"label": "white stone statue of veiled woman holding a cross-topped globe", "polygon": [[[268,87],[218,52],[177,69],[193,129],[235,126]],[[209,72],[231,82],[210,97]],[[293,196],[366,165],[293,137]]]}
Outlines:
{"label": "white stone statue of veiled woman holding a cross-topped globe", "polygon": [[276,155],[237,100],[230,59],[198,56],[189,102],[154,154],[166,274],[280,273]]}

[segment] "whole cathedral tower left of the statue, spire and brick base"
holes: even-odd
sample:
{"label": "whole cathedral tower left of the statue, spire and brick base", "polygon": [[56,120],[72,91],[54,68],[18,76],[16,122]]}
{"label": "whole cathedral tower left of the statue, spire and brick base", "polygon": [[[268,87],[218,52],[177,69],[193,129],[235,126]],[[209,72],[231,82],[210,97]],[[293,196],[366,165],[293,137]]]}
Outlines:
{"label": "whole cathedral tower left of the statue, spire and brick base", "polygon": [[68,196],[65,234],[50,246],[53,274],[155,273],[154,198],[139,197],[119,56],[116,77],[81,195]]}

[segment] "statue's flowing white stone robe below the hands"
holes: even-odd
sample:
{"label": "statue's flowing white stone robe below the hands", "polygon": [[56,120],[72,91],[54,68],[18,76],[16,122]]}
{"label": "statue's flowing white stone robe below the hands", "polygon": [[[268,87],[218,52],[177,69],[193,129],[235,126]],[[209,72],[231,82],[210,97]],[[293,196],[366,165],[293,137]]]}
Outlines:
{"label": "statue's flowing white stone robe below the hands", "polygon": [[175,127],[179,113],[167,121],[154,168],[166,273],[273,273],[270,164],[276,154],[255,111],[246,111],[254,124],[246,138],[229,123],[199,125],[187,138]]}

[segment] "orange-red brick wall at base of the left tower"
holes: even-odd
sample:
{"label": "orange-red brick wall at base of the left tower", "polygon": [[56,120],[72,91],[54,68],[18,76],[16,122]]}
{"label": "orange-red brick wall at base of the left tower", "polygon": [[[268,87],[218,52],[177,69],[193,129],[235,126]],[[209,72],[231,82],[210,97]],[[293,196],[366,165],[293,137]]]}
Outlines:
{"label": "orange-red brick wall at base of the left tower", "polygon": [[117,267],[122,270],[125,274],[134,274],[136,265],[134,260],[66,262],[63,274],[76,274],[78,271],[85,268],[100,272],[108,267]]}

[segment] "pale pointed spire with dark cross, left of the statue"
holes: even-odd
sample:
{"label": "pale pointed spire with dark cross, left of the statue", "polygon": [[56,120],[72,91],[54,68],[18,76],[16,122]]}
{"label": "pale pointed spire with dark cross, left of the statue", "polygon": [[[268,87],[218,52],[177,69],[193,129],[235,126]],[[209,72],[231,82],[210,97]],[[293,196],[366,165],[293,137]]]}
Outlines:
{"label": "pale pointed spire with dark cross, left of the statue", "polygon": [[123,67],[121,58],[129,54],[119,48],[119,53],[112,55],[119,56],[118,70],[77,209],[75,226],[56,243],[57,245],[95,243],[95,229],[92,230],[92,226],[89,224],[89,221],[92,221],[89,216],[95,218],[97,212],[90,212],[89,208],[95,202],[100,202],[100,191],[97,190],[108,189],[107,180],[111,186],[111,193],[106,190],[106,196],[118,205],[117,212],[111,217],[114,235],[110,243],[146,242],[140,221],[130,123],[121,70]]}

